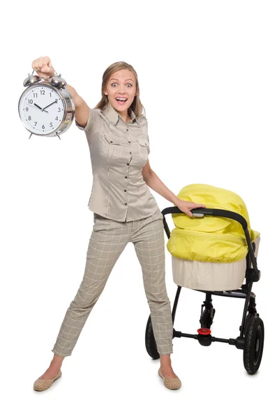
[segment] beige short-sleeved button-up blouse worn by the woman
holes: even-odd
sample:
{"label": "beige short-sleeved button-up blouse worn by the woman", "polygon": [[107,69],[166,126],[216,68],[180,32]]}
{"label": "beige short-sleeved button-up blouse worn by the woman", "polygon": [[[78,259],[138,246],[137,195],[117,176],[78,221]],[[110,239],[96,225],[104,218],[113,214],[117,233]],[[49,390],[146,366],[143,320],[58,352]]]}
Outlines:
{"label": "beige short-sleeved button-up blouse worn by the woman", "polygon": [[109,219],[128,222],[153,215],[158,205],[142,177],[150,153],[147,119],[129,108],[126,123],[109,103],[89,109],[84,130],[91,154],[93,184],[89,209]]}

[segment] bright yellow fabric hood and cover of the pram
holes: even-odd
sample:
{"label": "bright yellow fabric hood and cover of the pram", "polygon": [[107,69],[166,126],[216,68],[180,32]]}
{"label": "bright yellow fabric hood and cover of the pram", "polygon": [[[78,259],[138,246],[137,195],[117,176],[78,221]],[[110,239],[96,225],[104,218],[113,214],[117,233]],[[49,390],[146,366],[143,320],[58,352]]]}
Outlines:
{"label": "bright yellow fabric hood and cover of the pram", "polygon": [[[207,208],[237,212],[246,219],[251,242],[260,235],[250,228],[246,204],[230,190],[193,184],[183,187],[177,196],[184,201],[203,203]],[[242,260],[248,253],[244,229],[234,219],[210,215],[190,218],[183,213],[172,213],[172,220],[176,228],[167,241],[167,249],[172,256],[186,260],[232,263]]]}

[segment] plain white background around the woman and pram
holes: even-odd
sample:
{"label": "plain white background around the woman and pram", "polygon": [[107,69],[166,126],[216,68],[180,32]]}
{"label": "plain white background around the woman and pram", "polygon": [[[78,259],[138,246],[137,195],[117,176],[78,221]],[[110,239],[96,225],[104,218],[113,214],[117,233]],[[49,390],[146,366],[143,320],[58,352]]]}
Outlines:
{"label": "plain white background around the woman and pram", "polygon": [[[60,1],[6,5],[1,27],[1,409],[3,417],[260,417],[274,414],[276,376],[276,2]],[[132,244],[114,266],[63,376],[47,369],[68,305],[82,281],[93,227],[84,132],[32,136],[17,104],[31,63],[54,68],[94,107],[115,61],[137,71],[149,123],[152,169],[169,189],[206,183],[244,199],[261,233],[254,284],[264,320],[260,370],[243,353],[174,339],[170,391],[144,346],[149,307]],[[152,192],[160,210],[172,203]],[[167,215],[172,229],[172,219]],[[165,242],[167,238],[165,235]],[[177,286],[166,251],[172,306]],[[182,289],[176,330],[195,333],[204,294]],[[214,297],[212,334],[239,336],[244,301]]]}

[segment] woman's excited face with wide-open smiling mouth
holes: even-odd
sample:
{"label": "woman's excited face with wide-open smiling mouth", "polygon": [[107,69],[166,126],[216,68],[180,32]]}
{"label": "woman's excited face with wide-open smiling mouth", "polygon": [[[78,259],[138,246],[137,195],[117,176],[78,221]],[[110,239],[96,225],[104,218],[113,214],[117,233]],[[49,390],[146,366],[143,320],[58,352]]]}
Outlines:
{"label": "woman's excited face with wide-open smiling mouth", "polygon": [[104,94],[107,95],[112,107],[122,116],[126,116],[128,107],[130,107],[136,95],[133,72],[126,68],[114,72],[107,82]]}

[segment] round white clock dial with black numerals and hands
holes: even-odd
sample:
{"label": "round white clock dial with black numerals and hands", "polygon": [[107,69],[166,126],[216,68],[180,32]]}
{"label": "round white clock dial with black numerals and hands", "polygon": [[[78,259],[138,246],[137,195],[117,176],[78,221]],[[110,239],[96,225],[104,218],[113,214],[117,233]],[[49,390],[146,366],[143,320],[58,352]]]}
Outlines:
{"label": "round white clock dial with black numerals and hands", "polygon": [[47,135],[63,121],[63,99],[52,86],[36,85],[24,91],[19,103],[20,118],[27,130]]}

